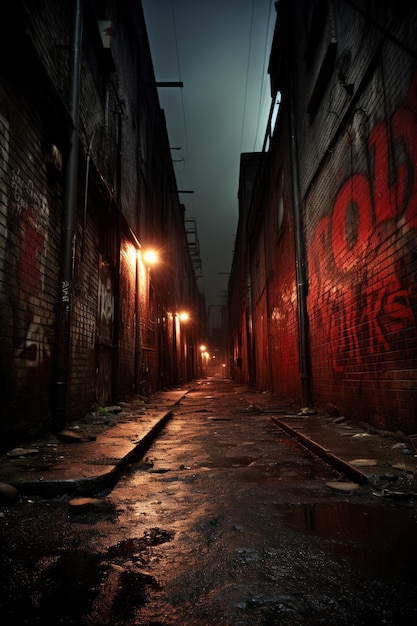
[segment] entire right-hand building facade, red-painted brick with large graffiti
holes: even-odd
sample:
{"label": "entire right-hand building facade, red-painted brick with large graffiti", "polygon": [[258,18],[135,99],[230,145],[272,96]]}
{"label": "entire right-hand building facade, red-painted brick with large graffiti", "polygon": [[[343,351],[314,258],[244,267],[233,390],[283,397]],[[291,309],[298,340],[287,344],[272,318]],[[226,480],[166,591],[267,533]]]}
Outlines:
{"label": "entire right-hand building facade, red-painted brick with large graffiti", "polygon": [[276,9],[279,113],[256,173],[241,168],[241,188],[253,192],[249,207],[240,197],[229,283],[234,376],[412,434],[417,9],[366,0]]}

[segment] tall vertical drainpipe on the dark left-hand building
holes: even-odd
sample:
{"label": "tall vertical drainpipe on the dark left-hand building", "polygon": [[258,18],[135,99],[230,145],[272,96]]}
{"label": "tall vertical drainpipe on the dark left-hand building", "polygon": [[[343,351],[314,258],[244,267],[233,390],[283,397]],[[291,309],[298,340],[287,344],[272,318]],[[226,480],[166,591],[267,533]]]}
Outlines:
{"label": "tall vertical drainpipe on the dark left-hand building", "polygon": [[72,278],[78,187],[79,100],[83,28],[82,2],[83,0],[75,0],[71,67],[71,119],[65,179],[64,213],[62,219],[60,292],[57,312],[57,367],[54,390],[54,421],[58,428],[64,427],[67,419],[68,376],[71,347]]}

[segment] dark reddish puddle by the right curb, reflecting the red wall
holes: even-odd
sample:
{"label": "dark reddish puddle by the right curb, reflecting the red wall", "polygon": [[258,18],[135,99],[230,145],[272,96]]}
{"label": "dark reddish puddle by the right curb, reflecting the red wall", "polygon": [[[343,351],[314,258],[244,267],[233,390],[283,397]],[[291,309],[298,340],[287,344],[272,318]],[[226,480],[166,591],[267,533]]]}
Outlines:
{"label": "dark reddish puddle by the right curb, reflecting the red wall", "polygon": [[416,579],[415,509],[350,502],[298,505],[285,511],[284,524],[327,540],[337,557],[351,560],[365,573]]}

